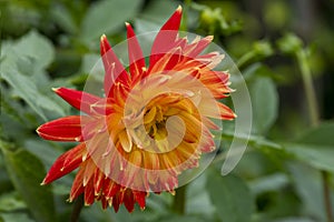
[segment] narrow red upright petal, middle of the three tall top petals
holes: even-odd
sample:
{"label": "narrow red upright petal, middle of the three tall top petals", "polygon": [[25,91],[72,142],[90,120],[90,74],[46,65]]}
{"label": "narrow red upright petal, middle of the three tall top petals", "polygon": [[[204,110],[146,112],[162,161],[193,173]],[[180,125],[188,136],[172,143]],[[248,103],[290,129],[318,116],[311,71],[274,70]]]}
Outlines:
{"label": "narrow red upright petal, middle of the three tall top petals", "polygon": [[145,58],[143,56],[141,48],[137,40],[137,37],[134,32],[132,27],[129,23],[126,23],[127,27],[127,38],[128,38],[128,53],[130,62],[130,73],[132,80],[141,75],[145,68]]}

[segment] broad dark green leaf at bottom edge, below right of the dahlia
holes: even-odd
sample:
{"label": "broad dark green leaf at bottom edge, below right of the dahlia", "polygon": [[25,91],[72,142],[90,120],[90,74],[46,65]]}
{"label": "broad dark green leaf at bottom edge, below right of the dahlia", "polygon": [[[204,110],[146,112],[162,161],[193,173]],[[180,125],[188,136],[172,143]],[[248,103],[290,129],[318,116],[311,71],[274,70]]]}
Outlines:
{"label": "broad dark green leaf at bottom edge, below right of the dahlia", "polygon": [[207,189],[220,221],[247,222],[255,210],[254,200],[245,182],[236,175],[208,173]]}

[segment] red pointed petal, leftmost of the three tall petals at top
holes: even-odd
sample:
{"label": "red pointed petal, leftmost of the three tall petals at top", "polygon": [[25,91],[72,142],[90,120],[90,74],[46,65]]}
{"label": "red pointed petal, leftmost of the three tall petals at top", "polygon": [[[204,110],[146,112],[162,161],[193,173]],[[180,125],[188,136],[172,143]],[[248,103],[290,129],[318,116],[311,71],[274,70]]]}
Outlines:
{"label": "red pointed petal, leftmost of the three tall petals at top", "polygon": [[100,53],[105,65],[105,93],[109,97],[112,93],[112,87],[117,82],[128,85],[128,73],[111,49],[107,37],[104,34],[100,40]]}

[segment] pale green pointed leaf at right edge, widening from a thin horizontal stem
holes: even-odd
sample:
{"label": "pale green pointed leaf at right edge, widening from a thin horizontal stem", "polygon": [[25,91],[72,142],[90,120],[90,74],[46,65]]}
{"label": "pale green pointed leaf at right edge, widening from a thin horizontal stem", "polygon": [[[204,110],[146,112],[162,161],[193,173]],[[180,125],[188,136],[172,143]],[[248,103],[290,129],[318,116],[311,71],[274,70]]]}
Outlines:
{"label": "pale green pointed leaf at right edge, widening from a thin horizontal stem", "polygon": [[334,147],[286,143],[284,148],[288,153],[313,168],[334,173]]}

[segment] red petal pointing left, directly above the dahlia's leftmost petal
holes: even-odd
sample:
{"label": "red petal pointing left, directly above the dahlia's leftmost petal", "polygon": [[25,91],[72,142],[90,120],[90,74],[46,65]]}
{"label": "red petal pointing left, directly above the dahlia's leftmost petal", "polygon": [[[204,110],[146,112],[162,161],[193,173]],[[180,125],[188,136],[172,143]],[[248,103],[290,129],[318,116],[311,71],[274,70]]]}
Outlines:
{"label": "red petal pointing left, directly above the dahlia's leftmost petal", "polygon": [[73,89],[56,88],[53,91],[73,108],[81,110],[87,114],[91,114],[90,104],[100,100],[99,97]]}

